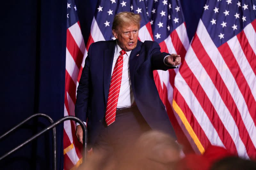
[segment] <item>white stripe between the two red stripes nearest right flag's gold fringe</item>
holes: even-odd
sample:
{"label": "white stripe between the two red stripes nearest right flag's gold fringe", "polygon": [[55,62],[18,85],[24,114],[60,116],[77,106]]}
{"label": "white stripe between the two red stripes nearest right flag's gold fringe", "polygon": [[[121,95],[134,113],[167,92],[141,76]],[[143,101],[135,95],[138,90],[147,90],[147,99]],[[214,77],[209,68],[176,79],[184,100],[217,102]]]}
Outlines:
{"label": "white stripe between the two red stripes nearest right flag's gold fringe", "polygon": [[[189,53],[188,48],[188,52]],[[220,137],[212,126],[211,121],[207,117],[206,113],[204,112],[203,108],[201,107],[200,103],[196,99],[194,93],[189,88],[187,82],[183,79],[180,75],[180,72],[177,73],[175,77],[175,87],[179,90],[181,96],[184,98],[185,102],[188,104],[188,107],[192,111],[194,117],[196,118],[198,124],[201,126],[202,130],[204,131],[205,135],[209,139],[212,145],[218,145],[225,148]]]}

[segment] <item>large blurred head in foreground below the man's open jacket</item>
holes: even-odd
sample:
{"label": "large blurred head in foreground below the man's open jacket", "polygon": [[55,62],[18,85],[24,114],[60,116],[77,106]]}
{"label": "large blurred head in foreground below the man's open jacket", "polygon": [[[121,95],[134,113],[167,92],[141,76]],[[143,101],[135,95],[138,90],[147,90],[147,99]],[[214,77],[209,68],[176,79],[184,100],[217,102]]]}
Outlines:
{"label": "large blurred head in foreground below the man's open jacket", "polygon": [[174,169],[180,159],[180,145],[175,140],[159,131],[148,131],[138,139],[133,160],[135,167],[132,169]]}

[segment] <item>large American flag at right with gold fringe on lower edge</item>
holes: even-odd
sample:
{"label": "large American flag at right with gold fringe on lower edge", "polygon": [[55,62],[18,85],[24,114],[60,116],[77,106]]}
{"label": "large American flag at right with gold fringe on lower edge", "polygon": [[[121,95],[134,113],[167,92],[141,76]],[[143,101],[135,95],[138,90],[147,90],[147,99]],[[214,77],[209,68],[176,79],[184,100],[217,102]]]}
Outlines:
{"label": "large American flag at right with gold fringe on lower edge", "polygon": [[203,153],[256,158],[256,2],[207,0],[174,81],[173,108]]}

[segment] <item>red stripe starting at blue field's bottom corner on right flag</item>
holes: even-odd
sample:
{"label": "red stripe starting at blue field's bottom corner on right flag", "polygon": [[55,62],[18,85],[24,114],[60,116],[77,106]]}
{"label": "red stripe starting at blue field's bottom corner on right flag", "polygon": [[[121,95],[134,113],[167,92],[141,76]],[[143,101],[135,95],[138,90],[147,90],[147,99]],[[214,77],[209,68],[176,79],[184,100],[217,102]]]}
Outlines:
{"label": "red stripe starting at blue field's bottom corner on right flag", "polygon": [[220,51],[221,56],[223,57],[224,61],[226,62],[230,72],[234,76],[236,80],[236,84],[238,88],[240,89],[242,95],[244,96],[245,103],[248,107],[248,110],[250,112],[250,115],[252,117],[252,120],[254,121],[254,125],[256,125],[256,102],[254,100],[254,97],[252,96],[252,92],[250,90],[249,85],[247,84],[247,81],[244,78],[244,75],[231,51],[231,49],[228,46],[228,43],[224,43],[221,46],[218,47],[218,50]]}

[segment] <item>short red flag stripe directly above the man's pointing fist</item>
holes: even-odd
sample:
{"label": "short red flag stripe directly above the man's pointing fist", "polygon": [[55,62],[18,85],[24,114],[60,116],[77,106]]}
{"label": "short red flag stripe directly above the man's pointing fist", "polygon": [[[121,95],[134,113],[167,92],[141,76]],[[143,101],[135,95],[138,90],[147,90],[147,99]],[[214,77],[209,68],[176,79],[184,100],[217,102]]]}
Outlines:
{"label": "short red flag stripe directly above the man's pointing fist", "polygon": [[173,32],[170,34],[171,38],[172,38],[172,44],[173,47],[175,49],[175,51],[177,52],[177,54],[180,55],[181,57],[181,63],[184,62],[185,59],[185,55],[187,53],[185,47],[183,46],[182,42],[180,41],[179,35],[176,32],[176,30],[173,30]]}

